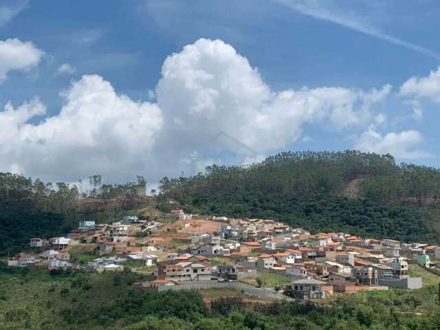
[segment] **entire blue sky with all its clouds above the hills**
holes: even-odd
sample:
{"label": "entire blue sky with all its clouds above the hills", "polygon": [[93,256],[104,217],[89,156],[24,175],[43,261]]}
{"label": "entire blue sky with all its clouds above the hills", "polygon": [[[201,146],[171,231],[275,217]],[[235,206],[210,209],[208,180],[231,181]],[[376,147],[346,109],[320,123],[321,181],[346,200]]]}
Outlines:
{"label": "entire blue sky with all its clouds above the hills", "polygon": [[0,0],[0,172],[193,175],[281,151],[437,166],[436,0]]}

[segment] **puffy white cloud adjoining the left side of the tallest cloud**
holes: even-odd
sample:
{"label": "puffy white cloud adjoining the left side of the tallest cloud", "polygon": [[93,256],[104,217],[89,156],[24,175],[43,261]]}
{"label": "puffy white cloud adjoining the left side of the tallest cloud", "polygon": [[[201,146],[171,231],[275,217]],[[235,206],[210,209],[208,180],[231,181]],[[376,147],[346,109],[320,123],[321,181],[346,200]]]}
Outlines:
{"label": "puffy white cloud adjoining the left side of the tallest cloud", "polygon": [[0,168],[19,164],[26,174],[69,181],[90,173],[133,177],[144,170],[139,159],[149,157],[162,126],[157,105],[116,94],[100,76],[83,76],[62,95],[60,113],[39,124],[28,122],[43,113],[38,100],[0,112],[0,123],[8,121],[1,125]]}

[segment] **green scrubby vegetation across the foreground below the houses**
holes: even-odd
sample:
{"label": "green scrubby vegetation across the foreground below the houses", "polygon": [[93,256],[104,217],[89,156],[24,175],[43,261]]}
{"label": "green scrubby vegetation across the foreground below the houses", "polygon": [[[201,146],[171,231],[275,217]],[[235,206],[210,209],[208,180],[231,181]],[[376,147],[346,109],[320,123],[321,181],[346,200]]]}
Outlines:
{"label": "green scrubby vegetation across the foreground below the houses", "polygon": [[[250,300],[219,289],[142,292],[142,275],[30,270],[0,265],[1,329],[434,330],[434,286],[341,296],[317,307]],[[223,296],[226,295],[226,296]],[[229,295],[229,296],[228,296]],[[219,298],[222,297],[222,298]],[[208,302],[208,303],[207,303]],[[210,308],[208,308],[210,307]],[[431,313],[432,312],[432,313]]]}

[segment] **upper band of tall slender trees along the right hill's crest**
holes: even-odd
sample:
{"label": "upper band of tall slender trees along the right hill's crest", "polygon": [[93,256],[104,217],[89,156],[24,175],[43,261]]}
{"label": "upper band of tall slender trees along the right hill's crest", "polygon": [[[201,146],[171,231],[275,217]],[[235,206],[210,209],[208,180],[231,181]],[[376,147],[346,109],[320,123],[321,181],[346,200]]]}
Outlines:
{"label": "upper band of tall slender trees along the right hill's crest", "polygon": [[193,192],[340,195],[361,179],[358,195],[375,201],[412,201],[422,206],[440,197],[440,170],[414,164],[395,164],[391,155],[343,152],[285,152],[246,166],[209,166],[206,173],[160,181],[160,191],[181,200]]}

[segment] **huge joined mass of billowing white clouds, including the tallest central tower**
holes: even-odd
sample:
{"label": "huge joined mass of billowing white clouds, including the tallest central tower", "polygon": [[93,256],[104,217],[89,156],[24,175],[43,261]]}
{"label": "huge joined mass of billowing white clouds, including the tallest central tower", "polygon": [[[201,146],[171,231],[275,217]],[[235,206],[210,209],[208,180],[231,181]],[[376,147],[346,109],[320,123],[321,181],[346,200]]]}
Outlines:
{"label": "huge joined mass of billowing white clouds, including the tallest central tower", "polygon": [[[69,181],[144,174],[157,182],[225,159],[261,160],[307,138],[306,124],[364,129],[381,120],[373,107],[390,91],[390,85],[274,91],[231,45],[200,39],[166,58],[154,103],[118,95],[100,76],[83,76],[61,94],[61,111],[41,122],[32,119],[44,113],[39,100],[17,109],[9,104],[0,112],[3,120],[14,118],[0,135],[0,170]],[[367,137],[360,146],[368,147]]]}

